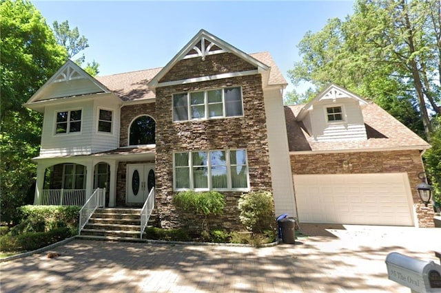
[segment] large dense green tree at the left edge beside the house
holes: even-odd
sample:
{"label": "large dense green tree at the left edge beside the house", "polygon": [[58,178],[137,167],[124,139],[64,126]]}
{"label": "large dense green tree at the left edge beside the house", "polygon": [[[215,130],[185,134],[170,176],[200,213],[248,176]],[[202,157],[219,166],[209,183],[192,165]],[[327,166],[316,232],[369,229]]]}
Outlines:
{"label": "large dense green tree at the left edge beside the house", "polygon": [[26,0],[2,0],[1,26],[1,221],[33,198],[42,116],[22,107],[63,65],[66,50],[57,44],[40,12]]}

